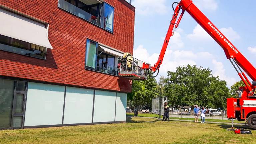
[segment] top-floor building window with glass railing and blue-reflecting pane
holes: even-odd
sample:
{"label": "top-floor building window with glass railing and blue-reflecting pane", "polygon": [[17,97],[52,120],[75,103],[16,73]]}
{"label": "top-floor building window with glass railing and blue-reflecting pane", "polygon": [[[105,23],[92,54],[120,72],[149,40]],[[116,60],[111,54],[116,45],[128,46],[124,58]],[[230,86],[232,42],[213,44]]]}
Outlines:
{"label": "top-floor building window with glass railing and blue-reflecting pane", "polygon": [[58,7],[113,32],[114,8],[98,0],[59,0]]}

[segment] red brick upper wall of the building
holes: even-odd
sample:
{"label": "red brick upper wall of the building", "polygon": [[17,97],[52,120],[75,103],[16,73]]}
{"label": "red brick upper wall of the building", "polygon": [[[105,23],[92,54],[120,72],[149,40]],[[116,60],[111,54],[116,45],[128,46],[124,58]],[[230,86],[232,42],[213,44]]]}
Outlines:
{"label": "red brick upper wall of the building", "polygon": [[49,23],[47,59],[0,50],[0,75],[85,88],[130,92],[125,78],[85,70],[86,38],[133,53],[135,8],[124,0],[105,0],[115,8],[110,33],[58,8],[58,0],[0,0],[0,5]]}

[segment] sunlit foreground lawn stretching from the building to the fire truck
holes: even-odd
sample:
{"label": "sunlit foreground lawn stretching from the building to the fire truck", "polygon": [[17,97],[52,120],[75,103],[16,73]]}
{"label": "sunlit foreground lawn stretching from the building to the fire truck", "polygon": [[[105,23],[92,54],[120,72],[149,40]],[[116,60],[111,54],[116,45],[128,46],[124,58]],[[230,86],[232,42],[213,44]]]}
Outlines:
{"label": "sunlit foreground lawn stretching from the building to the fire truck", "polygon": [[127,117],[127,123],[0,131],[1,144],[253,144],[256,131],[234,134],[230,125],[163,122]]}

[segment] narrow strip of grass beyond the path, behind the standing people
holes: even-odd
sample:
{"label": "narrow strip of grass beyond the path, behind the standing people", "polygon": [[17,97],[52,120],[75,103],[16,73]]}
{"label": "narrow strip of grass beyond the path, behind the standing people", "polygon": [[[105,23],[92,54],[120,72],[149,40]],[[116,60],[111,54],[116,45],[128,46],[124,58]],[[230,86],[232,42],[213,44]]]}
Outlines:
{"label": "narrow strip of grass beyond the path, behind the standing people", "polygon": [[[127,116],[134,116],[134,113],[126,113]],[[157,114],[151,114],[151,113],[139,113],[138,114],[139,117],[154,117],[154,118],[159,118],[159,115]],[[161,116],[161,118],[163,118],[163,116]],[[178,119],[178,120],[195,120],[194,118],[177,118],[177,117],[170,117],[170,119]],[[201,122],[201,119],[199,117],[199,120]],[[208,119],[206,117],[205,121],[209,121],[209,122],[227,122],[227,123],[231,123],[231,120],[219,120],[219,119]],[[244,121],[237,121],[234,120],[234,123],[245,123]]]}

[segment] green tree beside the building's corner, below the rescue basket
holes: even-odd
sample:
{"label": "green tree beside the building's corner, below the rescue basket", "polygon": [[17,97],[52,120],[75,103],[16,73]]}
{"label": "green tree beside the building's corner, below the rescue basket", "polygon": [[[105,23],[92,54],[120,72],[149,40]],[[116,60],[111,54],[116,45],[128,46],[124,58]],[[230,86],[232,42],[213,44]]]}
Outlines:
{"label": "green tree beside the building's corner, below the rescue basket", "polygon": [[[151,108],[152,98],[157,96],[156,79],[148,77],[145,81],[132,82],[132,92],[128,93],[127,99],[131,100],[132,105],[140,110],[142,106]],[[130,103],[130,104],[131,104]]]}

